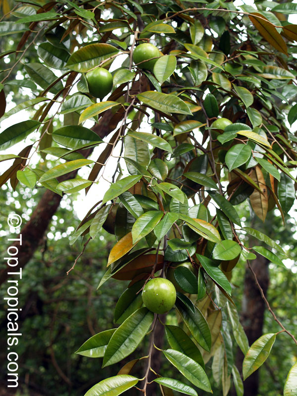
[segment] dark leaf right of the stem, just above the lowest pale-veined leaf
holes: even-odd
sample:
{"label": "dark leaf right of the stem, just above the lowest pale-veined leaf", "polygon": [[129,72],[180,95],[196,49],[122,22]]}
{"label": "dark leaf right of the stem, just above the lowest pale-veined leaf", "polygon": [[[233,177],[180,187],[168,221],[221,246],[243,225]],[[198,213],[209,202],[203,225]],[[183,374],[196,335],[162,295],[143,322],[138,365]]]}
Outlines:
{"label": "dark leaf right of the stem, just above the lowest pale-veined leaf", "polygon": [[191,357],[191,359],[195,360],[204,369],[204,361],[200,350],[181,327],[166,325],[165,333],[172,349]]}

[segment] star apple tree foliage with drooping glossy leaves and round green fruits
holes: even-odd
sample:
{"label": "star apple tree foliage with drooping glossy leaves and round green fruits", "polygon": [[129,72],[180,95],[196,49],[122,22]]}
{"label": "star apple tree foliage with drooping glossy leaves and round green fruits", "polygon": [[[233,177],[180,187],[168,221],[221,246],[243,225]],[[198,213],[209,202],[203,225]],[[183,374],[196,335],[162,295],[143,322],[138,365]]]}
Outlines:
{"label": "star apple tree foliage with drooping glossy leaves and round green fruits", "polygon": [[[263,364],[279,333],[297,343],[263,294],[280,331],[249,346],[232,298],[238,262],[255,276],[256,254],[279,265],[288,254],[251,228],[240,207],[262,222],[268,212],[284,223],[290,218],[297,183],[294,13],[293,2],[30,0],[3,15],[0,116],[13,122],[0,133],[0,160],[8,164],[0,183],[43,186],[49,206],[40,210],[49,213],[64,194],[101,194],[70,244],[84,240],[83,253],[102,227],[114,234],[98,287],[111,277],[129,284],[115,306],[117,327],[77,353],[103,358],[106,367],[150,340],[147,356],[86,396],[132,387],[148,395],[149,382],[162,395],[195,396],[197,388],[212,392],[210,376],[223,395],[233,382],[240,396],[241,373],[246,380]],[[6,99],[15,106],[5,110]],[[14,122],[24,109],[28,119]],[[173,304],[166,324],[158,313]],[[165,349],[154,344],[158,321]],[[233,345],[245,354],[241,373]],[[154,371],[153,348],[183,381]],[[143,378],[130,374],[140,359]],[[296,376],[294,365],[286,396],[296,395]]]}

